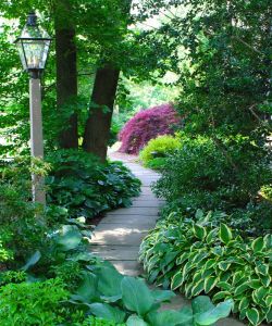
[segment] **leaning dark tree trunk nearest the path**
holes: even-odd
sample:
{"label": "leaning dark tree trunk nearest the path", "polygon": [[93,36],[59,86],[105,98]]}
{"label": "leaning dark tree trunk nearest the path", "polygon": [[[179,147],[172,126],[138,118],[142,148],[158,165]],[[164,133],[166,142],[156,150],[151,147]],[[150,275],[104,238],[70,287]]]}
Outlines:
{"label": "leaning dark tree trunk nearest the path", "polygon": [[120,71],[106,65],[98,68],[91,95],[89,117],[86,122],[83,148],[106,161],[111,117]]}

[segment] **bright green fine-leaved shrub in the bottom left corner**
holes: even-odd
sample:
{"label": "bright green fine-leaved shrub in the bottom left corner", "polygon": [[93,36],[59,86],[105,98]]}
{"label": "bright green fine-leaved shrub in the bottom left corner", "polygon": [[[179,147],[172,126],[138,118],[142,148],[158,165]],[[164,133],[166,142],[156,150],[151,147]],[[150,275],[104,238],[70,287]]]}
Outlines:
{"label": "bright green fine-leaved shrub in the bottom left corner", "polygon": [[60,279],[38,283],[9,284],[0,288],[0,324],[45,325],[61,324],[62,301],[69,292]]}

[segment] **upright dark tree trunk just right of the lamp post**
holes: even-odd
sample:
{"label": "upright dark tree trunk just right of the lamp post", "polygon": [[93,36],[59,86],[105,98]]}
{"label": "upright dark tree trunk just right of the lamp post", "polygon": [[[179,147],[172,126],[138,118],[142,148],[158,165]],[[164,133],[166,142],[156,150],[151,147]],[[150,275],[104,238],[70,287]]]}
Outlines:
{"label": "upright dark tree trunk just right of the lamp post", "polygon": [[[77,96],[75,29],[67,21],[69,9],[67,0],[58,1],[55,13],[57,105],[58,110],[63,113]],[[72,113],[67,121],[63,121],[63,124],[65,128],[59,135],[60,147],[78,148],[77,114]]]}

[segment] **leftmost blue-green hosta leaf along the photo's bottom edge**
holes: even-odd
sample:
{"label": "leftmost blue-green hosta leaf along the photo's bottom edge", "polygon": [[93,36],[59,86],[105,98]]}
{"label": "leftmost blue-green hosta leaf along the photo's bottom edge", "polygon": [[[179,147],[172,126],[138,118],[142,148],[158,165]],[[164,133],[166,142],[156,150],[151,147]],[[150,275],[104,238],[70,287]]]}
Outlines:
{"label": "leftmost blue-green hosta leaf along the photo's bottom edge", "polygon": [[107,303],[91,303],[88,304],[89,311],[97,317],[112,321],[114,323],[123,323],[125,319],[125,312],[121,311],[119,308],[111,306]]}

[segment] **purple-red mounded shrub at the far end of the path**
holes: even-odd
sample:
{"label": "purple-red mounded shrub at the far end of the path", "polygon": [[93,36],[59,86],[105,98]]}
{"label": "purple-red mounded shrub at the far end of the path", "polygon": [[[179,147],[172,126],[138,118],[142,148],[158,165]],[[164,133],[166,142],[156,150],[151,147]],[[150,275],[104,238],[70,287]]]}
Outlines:
{"label": "purple-red mounded shrub at the far end of the path", "polygon": [[119,134],[121,152],[137,154],[145,145],[159,135],[173,135],[174,126],[181,124],[172,104],[162,104],[138,112]]}

